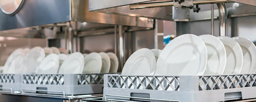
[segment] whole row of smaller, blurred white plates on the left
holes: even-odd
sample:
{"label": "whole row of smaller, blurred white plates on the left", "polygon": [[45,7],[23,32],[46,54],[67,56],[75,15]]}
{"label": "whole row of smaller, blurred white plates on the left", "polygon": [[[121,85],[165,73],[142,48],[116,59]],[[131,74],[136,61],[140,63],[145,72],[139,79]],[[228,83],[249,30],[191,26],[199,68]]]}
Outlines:
{"label": "whole row of smaller, blurred white plates on the left", "polygon": [[118,59],[112,52],[82,54],[56,47],[17,49],[7,59],[3,73],[79,74],[116,73]]}

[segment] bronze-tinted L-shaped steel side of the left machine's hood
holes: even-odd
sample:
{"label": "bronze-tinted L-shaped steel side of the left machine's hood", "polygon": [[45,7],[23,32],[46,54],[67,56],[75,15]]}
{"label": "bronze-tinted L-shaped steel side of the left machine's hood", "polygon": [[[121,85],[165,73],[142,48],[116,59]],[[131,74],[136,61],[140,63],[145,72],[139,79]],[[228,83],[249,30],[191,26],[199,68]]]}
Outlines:
{"label": "bronze-tinted L-shaped steel side of the left machine's hood", "polygon": [[148,22],[148,18],[145,17],[89,12],[88,2],[89,0],[71,0],[71,21],[153,28],[153,22]]}

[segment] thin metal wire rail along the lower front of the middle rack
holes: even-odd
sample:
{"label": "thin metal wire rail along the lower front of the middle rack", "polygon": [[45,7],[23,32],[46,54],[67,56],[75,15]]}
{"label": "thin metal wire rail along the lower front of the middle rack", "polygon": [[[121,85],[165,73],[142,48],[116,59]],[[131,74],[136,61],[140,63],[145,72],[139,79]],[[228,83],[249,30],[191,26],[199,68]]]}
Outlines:
{"label": "thin metal wire rail along the lower front of the middle rack", "polygon": [[[40,91],[40,92],[57,92],[57,93],[63,93],[62,95],[54,95],[54,94],[41,94],[41,93],[28,93],[25,91]],[[65,92],[64,91],[50,91],[50,90],[37,90],[37,89],[22,89],[21,90],[22,94],[32,94],[32,95],[42,95],[42,96],[62,96],[63,98],[66,97]]]}

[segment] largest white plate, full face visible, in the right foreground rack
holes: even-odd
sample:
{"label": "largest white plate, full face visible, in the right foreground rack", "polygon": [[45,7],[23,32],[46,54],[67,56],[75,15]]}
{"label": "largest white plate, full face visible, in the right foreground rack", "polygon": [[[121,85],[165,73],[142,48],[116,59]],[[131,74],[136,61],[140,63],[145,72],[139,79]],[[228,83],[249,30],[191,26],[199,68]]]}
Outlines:
{"label": "largest white plate, full face visible, in the right foreground rack", "polygon": [[203,75],[207,64],[204,42],[184,34],[168,43],[156,62],[155,75]]}

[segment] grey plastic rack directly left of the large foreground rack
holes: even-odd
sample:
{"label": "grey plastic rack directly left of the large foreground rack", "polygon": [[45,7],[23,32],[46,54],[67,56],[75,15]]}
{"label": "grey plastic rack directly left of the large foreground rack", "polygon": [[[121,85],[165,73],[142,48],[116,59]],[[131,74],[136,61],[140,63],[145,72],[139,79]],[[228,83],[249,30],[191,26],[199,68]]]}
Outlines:
{"label": "grey plastic rack directly left of the large foreground rack", "polygon": [[[99,74],[23,74],[21,90],[43,94],[95,94],[103,91],[103,75]],[[48,90],[40,92],[32,90]],[[53,92],[59,91],[59,92]]]}

